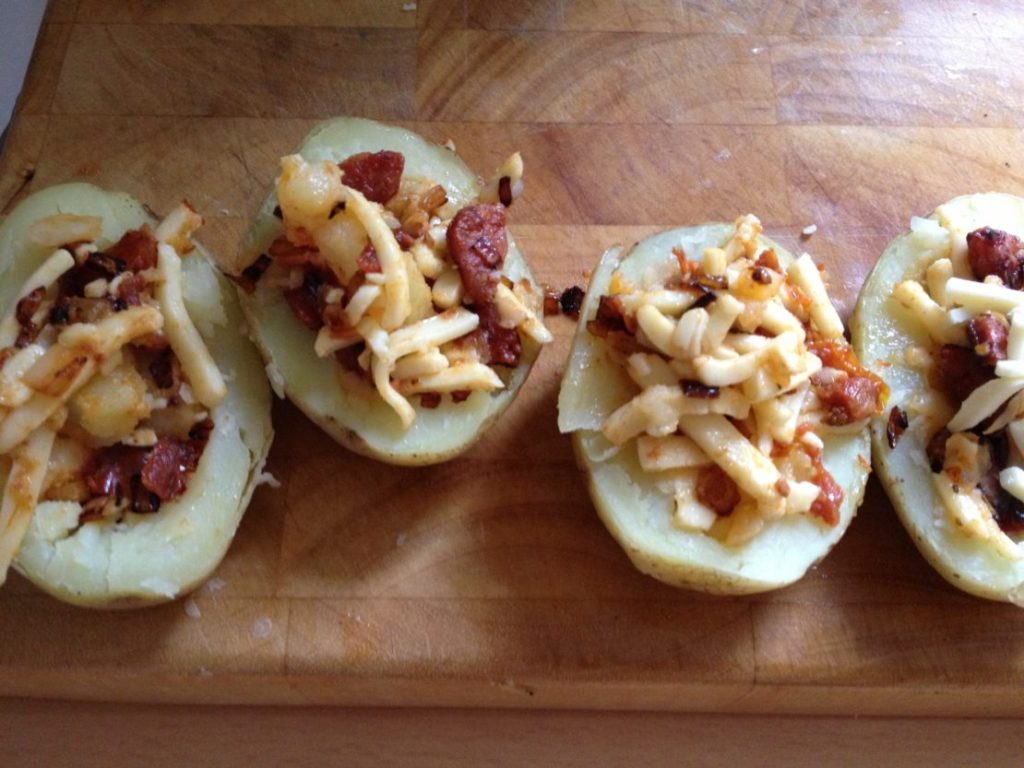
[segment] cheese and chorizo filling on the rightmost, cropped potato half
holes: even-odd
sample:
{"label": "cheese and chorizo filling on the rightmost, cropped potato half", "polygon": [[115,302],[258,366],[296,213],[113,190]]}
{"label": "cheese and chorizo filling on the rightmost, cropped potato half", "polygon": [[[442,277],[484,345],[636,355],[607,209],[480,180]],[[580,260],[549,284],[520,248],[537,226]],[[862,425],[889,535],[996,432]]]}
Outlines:
{"label": "cheese and chorizo filling on the rightmost, cropped potato half", "polygon": [[1013,537],[1024,532],[1024,242],[985,226],[950,252],[938,222],[915,219],[912,228],[946,244],[936,250],[948,254],[932,260],[923,280],[893,290],[931,340],[930,348],[909,348],[905,360],[941,395],[893,408],[889,446],[911,417],[927,418],[932,480],[948,519],[1020,559]]}

